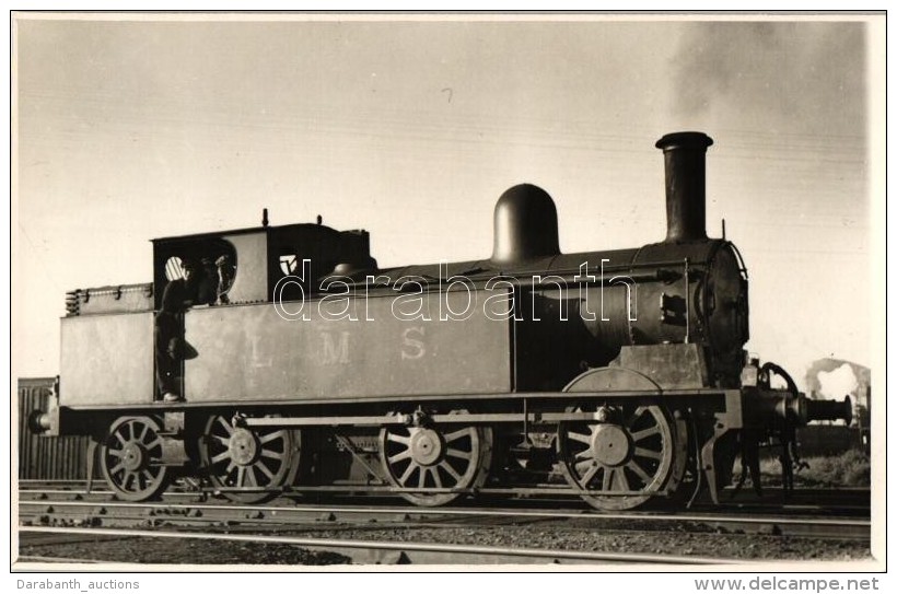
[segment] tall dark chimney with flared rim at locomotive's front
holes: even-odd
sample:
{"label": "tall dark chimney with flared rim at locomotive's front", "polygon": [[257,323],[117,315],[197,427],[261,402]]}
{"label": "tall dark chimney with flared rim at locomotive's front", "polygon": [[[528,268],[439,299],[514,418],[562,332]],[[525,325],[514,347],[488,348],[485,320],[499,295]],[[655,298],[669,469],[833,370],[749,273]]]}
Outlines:
{"label": "tall dark chimney with flared rim at locomotive's front", "polygon": [[666,135],[655,147],[663,150],[666,171],[666,241],[707,238],[704,155],[713,139],[702,132]]}

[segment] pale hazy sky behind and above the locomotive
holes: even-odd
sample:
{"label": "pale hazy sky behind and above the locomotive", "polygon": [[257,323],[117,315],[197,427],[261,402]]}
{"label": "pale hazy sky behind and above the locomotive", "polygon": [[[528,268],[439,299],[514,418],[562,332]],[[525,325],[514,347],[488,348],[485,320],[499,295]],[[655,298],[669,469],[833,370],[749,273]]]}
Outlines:
{"label": "pale hazy sky behind and above the locomotive", "polygon": [[14,23],[14,377],[58,373],[66,291],[148,282],[151,238],[264,207],[366,229],[383,267],[488,257],[523,182],[554,197],[562,252],[661,241],[654,142],[680,130],[714,139],[707,228],[747,263],[747,348],[799,382],[877,357],[884,19],[345,19]]}

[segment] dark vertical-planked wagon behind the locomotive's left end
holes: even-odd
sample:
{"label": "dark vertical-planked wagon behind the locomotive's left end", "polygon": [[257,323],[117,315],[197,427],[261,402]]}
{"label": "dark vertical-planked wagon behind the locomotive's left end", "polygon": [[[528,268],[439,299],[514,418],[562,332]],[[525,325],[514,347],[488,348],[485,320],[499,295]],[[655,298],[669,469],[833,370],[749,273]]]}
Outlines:
{"label": "dark vertical-planked wagon behind the locomotive's left end", "polygon": [[86,435],[47,436],[28,430],[30,410],[46,410],[54,377],[19,380],[19,479],[84,480]]}

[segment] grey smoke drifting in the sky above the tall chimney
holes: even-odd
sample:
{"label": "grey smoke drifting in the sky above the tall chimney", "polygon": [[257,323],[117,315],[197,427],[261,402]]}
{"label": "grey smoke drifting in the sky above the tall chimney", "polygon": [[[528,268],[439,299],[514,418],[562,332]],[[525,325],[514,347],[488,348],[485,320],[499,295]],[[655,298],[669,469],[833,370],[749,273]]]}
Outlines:
{"label": "grey smoke drifting in the sky above the tall chimney", "polygon": [[865,63],[864,26],[692,23],[671,65],[675,105],[683,115],[709,112],[720,120],[737,109],[761,130],[855,135],[866,126],[864,102],[855,101],[866,91],[858,68]]}

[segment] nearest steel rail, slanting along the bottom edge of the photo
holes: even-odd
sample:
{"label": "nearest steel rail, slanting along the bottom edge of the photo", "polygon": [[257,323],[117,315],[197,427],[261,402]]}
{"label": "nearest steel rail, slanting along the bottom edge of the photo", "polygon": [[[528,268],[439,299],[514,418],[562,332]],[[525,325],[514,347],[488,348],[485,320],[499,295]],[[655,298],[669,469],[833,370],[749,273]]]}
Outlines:
{"label": "nearest steel rail, slanting along the bottom edge of the photo", "polygon": [[[175,539],[206,539],[236,543],[259,543],[276,545],[294,545],[313,550],[330,551],[394,551],[404,555],[411,561],[418,555],[431,559],[430,563],[461,563],[476,560],[486,562],[576,562],[576,563],[675,563],[675,564],[742,564],[745,561],[737,559],[715,559],[708,557],[664,556],[649,554],[626,552],[594,552],[573,550],[529,549],[514,547],[486,547],[480,545],[445,545],[439,543],[395,543],[377,540],[341,540],[335,538],[304,538],[293,536],[254,536],[238,534],[200,534],[165,531],[133,531],[107,528],[70,528],[23,526],[20,533],[38,534],[82,534],[92,536],[116,536],[137,538],[175,538]],[[436,555],[438,557],[432,557]],[[469,560],[468,560],[469,558]],[[436,560],[439,559],[439,560]]]}

